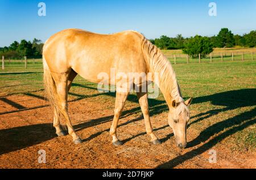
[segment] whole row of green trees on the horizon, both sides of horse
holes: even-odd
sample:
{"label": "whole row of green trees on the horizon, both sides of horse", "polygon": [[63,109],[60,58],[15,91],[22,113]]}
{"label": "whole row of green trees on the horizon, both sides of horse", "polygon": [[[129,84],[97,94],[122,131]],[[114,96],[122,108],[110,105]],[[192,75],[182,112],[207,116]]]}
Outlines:
{"label": "whole row of green trees on the horizon, both sides of horse", "polygon": [[[182,35],[176,37],[161,36],[150,40],[160,49],[182,49],[183,53],[192,58],[202,57],[213,52],[213,48],[232,48],[234,46],[255,47],[256,31],[240,35],[234,35],[228,28],[222,28],[217,36],[207,37],[196,35],[184,38]],[[43,43],[41,40],[20,42],[14,41],[10,46],[0,48],[0,56],[4,55],[7,59],[42,58]]]}

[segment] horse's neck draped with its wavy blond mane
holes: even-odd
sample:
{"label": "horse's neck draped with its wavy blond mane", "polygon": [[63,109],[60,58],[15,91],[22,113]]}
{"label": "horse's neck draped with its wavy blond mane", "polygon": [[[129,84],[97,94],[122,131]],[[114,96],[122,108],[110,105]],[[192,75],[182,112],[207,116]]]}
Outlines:
{"label": "horse's neck draped with its wavy blond mane", "polygon": [[144,36],[142,40],[142,48],[144,53],[148,55],[148,66],[152,72],[159,73],[159,88],[161,89],[165,98],[168,100],[183,101],[177,84],[174,69],[170,61],[163,55],[163,53],[154,44],[148,41]]}

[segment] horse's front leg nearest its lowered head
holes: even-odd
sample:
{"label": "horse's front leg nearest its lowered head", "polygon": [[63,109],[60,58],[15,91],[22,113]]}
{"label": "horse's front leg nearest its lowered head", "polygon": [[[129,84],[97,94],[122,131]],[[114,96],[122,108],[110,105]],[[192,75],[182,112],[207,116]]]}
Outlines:
{"label": "horse's front leg nearest its lowered head", "polygon": [[137,92],[137,97],[139,99],[139,105],[141,105],[141,110],[144,116],[146,132],[151,137],[151,142],[153,144],[161,144],[160,140],[156,137],[150,122],[150,115],[148,111],[148,101],[147,101],[147,92]]}

